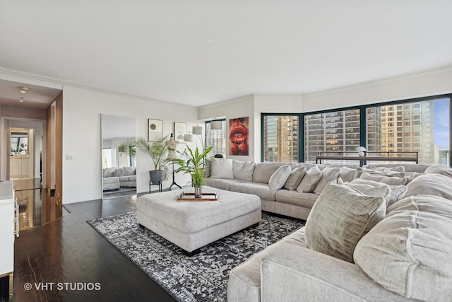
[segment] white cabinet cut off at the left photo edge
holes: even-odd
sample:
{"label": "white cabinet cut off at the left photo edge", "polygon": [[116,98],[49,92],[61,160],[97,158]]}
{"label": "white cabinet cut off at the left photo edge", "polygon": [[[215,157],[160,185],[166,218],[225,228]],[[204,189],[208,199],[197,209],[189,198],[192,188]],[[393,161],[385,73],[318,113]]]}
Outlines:
{"label": "white cabinet cut off at the left photo edge", "polygon": [[18,231],[17,219],[18,207],[14,201],[13,182],[0,182],[0,277],[9,275],[10,284],[13,283],[14,233]]}

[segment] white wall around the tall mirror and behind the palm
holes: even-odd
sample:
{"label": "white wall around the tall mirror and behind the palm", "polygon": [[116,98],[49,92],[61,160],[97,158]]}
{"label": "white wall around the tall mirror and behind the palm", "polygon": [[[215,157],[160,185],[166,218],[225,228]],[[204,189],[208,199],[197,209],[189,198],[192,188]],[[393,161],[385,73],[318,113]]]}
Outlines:
{"label": "white wall around the tall mirror and behind the palm", "polygon": [[[187,131],[196,124],[198,111],[182,105],[126,95],[93,91],[73,86],[63,88],[63,202],[100,199],[101,138],[100,114],[135,117],[136,136],[148,136],[148,119],[163,120],[163,134],[173,132],[173,122],[186,122]],[[184,150],[184,144],[178,149]],[[71,155],[72,160],[66,160]],[[150,160],[137,155],[137,191],[147,192]],[[176,175],[176,182],[185,185],[187,175]],[[168,187],[171,180],[164,182]],[[153,190],[157,187],[153,186]]]}

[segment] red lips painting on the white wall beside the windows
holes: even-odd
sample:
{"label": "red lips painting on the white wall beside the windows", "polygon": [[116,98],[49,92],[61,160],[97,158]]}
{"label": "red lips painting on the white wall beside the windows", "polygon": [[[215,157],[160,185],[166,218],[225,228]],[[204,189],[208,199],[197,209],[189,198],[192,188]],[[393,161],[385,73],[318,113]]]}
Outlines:
{"label": "red lips painting on the white wall beside the windows", "polygon": [[248,155],[249,117],[229,120],[229,155]]}

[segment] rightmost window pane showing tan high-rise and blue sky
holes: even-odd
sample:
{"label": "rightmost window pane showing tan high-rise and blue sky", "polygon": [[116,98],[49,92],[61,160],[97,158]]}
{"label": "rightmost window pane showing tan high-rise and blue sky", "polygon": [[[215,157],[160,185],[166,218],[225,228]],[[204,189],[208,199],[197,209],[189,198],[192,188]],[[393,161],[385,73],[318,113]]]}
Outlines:
{"label": "rightmost window pane showing tan high-rise and blue sky", "polygon": [[413,156],[419,163],[450,165],[450,99],[367,108],[367,151]]}

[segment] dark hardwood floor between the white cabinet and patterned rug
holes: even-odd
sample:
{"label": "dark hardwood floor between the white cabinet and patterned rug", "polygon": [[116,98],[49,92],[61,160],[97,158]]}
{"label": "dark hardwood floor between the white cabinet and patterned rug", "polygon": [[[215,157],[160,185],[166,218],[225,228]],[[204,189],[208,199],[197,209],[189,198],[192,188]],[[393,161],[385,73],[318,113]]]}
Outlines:
{"label": "dark hardwood floor between the white cabinet and patterned rug", "polygon": [[[136,210],[136,196],[65,208],[69,213],[61,218],[16,238],[14,301],[174,301],[86,223]],[[93,286],[100,289],[89,290]]]}

